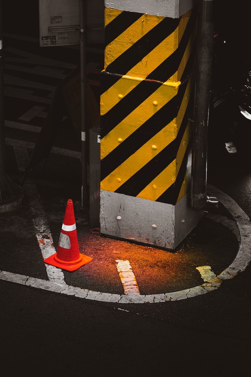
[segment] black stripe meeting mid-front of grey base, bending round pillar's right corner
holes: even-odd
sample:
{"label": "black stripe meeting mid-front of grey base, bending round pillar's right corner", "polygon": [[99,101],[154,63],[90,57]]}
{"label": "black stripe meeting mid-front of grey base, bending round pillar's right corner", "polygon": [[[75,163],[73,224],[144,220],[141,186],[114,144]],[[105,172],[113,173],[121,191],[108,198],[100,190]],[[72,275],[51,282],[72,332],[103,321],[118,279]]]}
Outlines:
{"label": "black stripe meeting mid-front of grey base, bending round pillar's right corner", "polygon": [[137,196],[145,187],[176,158],[180,143],[187,127],[188,117],[193,104],[193,93],[191,93],[189,103],[183,116],[183,120],[176,138],[168,144],[160,153],[152,158],[137,173],[129,178],[115,192],[130,196]]}

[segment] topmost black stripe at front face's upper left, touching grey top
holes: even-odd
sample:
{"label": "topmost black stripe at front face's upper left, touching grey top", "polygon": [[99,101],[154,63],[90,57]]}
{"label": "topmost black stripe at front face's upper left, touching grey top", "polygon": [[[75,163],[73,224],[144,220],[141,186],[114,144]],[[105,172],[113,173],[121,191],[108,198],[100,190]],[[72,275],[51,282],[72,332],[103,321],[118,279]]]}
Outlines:
{"label": "topmost black stripe at front face's upper left, touching grey top", "polygon": [[144,13],[123,11],[105,26],[105,45],[107,46],[135,21],[143,16]]}

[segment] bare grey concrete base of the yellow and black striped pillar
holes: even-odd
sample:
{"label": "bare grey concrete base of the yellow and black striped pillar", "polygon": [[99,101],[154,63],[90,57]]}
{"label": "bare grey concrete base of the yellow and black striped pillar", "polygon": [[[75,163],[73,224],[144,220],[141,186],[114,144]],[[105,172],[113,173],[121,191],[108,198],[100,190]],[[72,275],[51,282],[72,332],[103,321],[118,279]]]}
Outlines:
{"label": "bare grey concrete base of the yellow and black striped pillar", "polygon": [[174,249],[198,224],[204,211],[100,190],[100,231],[107,236]]}

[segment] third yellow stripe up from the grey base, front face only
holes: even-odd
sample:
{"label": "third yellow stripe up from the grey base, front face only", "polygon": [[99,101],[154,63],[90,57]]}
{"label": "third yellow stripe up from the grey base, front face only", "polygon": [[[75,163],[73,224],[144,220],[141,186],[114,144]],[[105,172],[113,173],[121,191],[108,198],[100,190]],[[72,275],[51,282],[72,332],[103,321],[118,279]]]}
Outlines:
{"label": "third yellow stripe up from the grey base, front face only", "polygon": [[103,159],[152,115],[161,109],[178,92],[178,86],[161,85],[134,111],[129,113],[114,129],[101,139],[100,158]]}

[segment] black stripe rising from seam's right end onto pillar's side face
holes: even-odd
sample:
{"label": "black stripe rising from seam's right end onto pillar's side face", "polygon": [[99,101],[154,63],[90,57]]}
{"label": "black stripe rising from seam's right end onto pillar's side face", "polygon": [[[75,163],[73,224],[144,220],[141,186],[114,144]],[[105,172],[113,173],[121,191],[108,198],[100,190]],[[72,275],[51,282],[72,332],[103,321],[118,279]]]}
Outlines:
{"label": "black stripe rising from seam's right end onto pillar's side face", "polygon": [[155,70],[153,70],[151,74],[148,75],[147,78],[149,80],[159,80],[164,82],[168,80],[168,78],[170,78],[173,74],[175,74],[178,67],[180,66],[182,57],[187,47],[187,43],[189,42],[189,38],[194,29],[197,14],[198,9],[197,6],[195,6],[187,22],[186,29],[180,40],[178,48],[168,58],[166,58],[163,63],[161,63]]}

